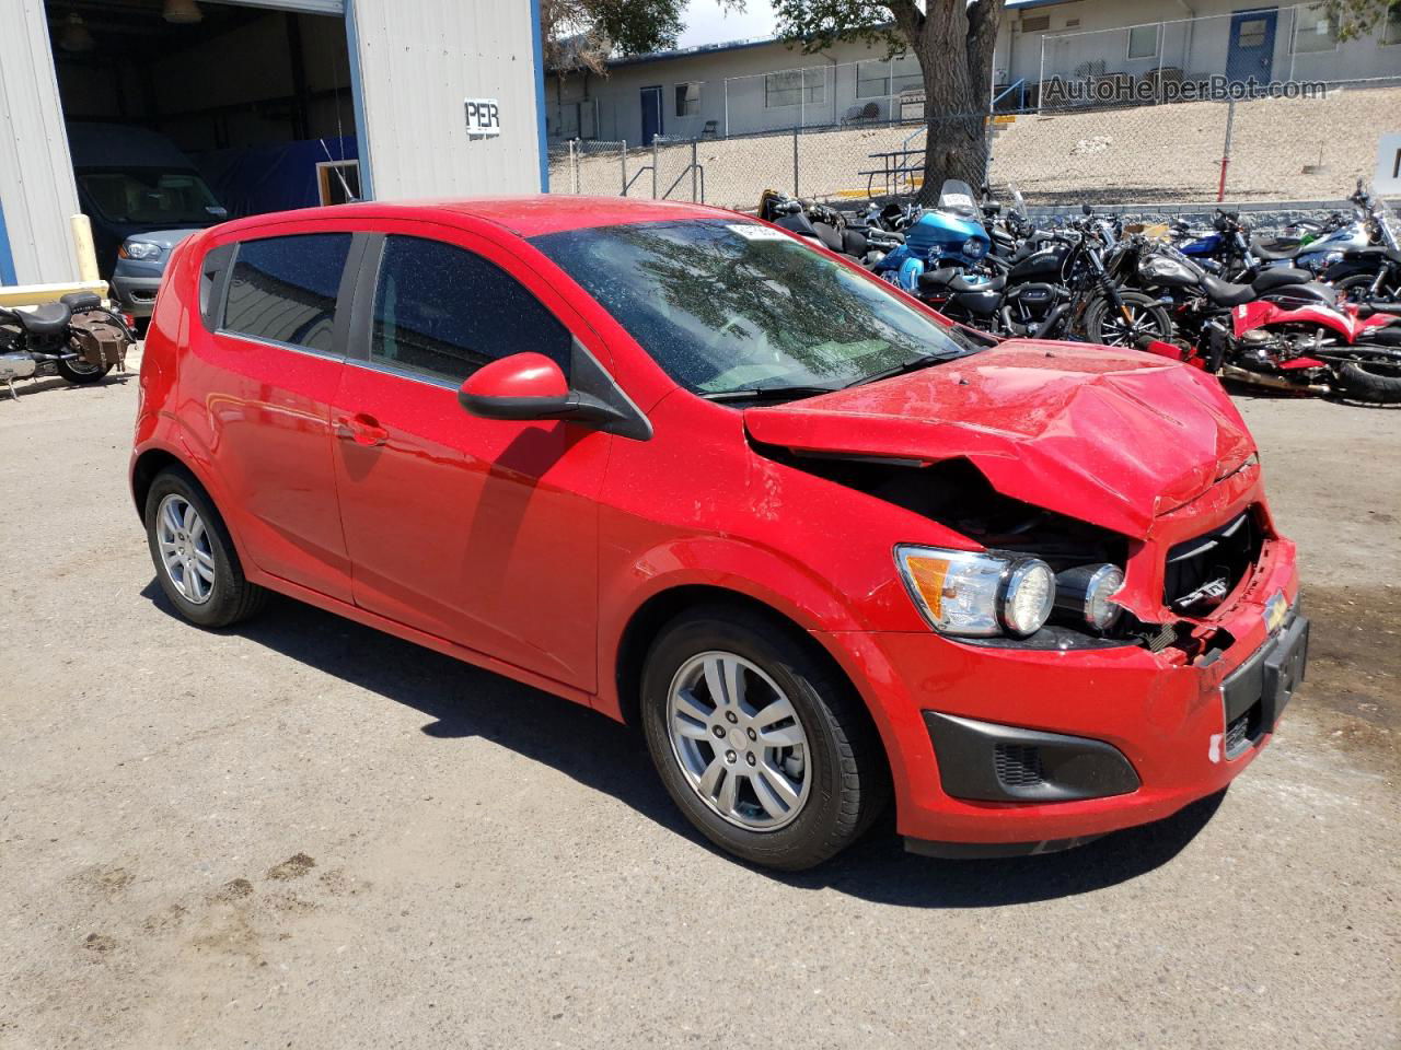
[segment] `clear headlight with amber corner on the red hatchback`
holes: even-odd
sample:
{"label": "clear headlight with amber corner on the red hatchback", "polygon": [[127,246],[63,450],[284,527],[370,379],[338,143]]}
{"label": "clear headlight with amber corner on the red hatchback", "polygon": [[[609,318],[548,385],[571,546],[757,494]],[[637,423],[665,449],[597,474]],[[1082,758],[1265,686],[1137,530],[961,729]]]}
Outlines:
{"label": "clear headlight with amber corner on the red hatchback", "polygon": [[898,546],[895,564],[941,634],[1035,634],[1055,605],[1055,574],[1040,559]]}

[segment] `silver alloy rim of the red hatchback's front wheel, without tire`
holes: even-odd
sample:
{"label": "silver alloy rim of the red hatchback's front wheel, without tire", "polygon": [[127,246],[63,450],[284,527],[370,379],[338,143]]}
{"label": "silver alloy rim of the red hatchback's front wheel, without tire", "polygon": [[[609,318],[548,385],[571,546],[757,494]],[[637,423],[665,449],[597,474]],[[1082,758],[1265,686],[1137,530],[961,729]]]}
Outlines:
{"label": "silver alloy rim of the red hatchback's front wheel, without tire", "polygon": [[797,819],[811,788],[807,731],[779,685],[734,652],[700,652],[677,669],[667,735],[692,791],[750,832]]}

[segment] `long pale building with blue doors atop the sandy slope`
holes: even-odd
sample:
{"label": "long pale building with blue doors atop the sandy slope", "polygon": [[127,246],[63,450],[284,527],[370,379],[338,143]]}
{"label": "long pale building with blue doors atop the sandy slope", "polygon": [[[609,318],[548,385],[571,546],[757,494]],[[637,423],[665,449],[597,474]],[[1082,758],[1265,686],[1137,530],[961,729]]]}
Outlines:
{"label": "long pale building with blue doors atop the sandy slope", "polygon": [[[1000,108],[1034,106],[1052,81],[1353,81],[1401,77],[1401,7],[1339,41],[1318,4],[1245,0],[1007,0],[993,55]],[[608,76],[546,74],[549,137],[724,137],[919,120],[913,56],[836,42],[803,55],[778,39],[619,59]]]}

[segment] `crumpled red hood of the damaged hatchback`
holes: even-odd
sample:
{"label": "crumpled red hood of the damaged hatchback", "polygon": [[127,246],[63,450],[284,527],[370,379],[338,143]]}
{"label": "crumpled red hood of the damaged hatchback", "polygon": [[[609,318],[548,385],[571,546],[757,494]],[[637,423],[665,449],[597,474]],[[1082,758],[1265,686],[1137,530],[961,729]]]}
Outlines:
{"label": "crumpled red hood of the damaged hatchback", "polygon": [[1031,340],[750,409],[744,424],[804,452],[965,458],[1003,496],[1138,539],[1255,451],[1220,384],[1195,368]]}

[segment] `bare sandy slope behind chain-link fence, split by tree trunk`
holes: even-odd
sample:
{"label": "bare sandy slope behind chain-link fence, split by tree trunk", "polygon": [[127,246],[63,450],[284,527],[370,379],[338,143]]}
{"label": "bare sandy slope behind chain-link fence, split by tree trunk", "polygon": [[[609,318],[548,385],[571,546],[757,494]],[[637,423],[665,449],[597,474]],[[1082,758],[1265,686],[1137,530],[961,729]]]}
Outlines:
{"label": "bare sandy slope behind chain-link fence, split by tree trunk", "polygon": [[647,147],[576,141],[551,153],[551,188],[744,210],[768,188],[838,203],[908,196],[933,134],[936,148],[985,136],[992,185],[1014,182],[1031,204],[1331,202],[1370,178],[1377,139],[1401,113],[1401,80],[1276,95],[658,136]]}

